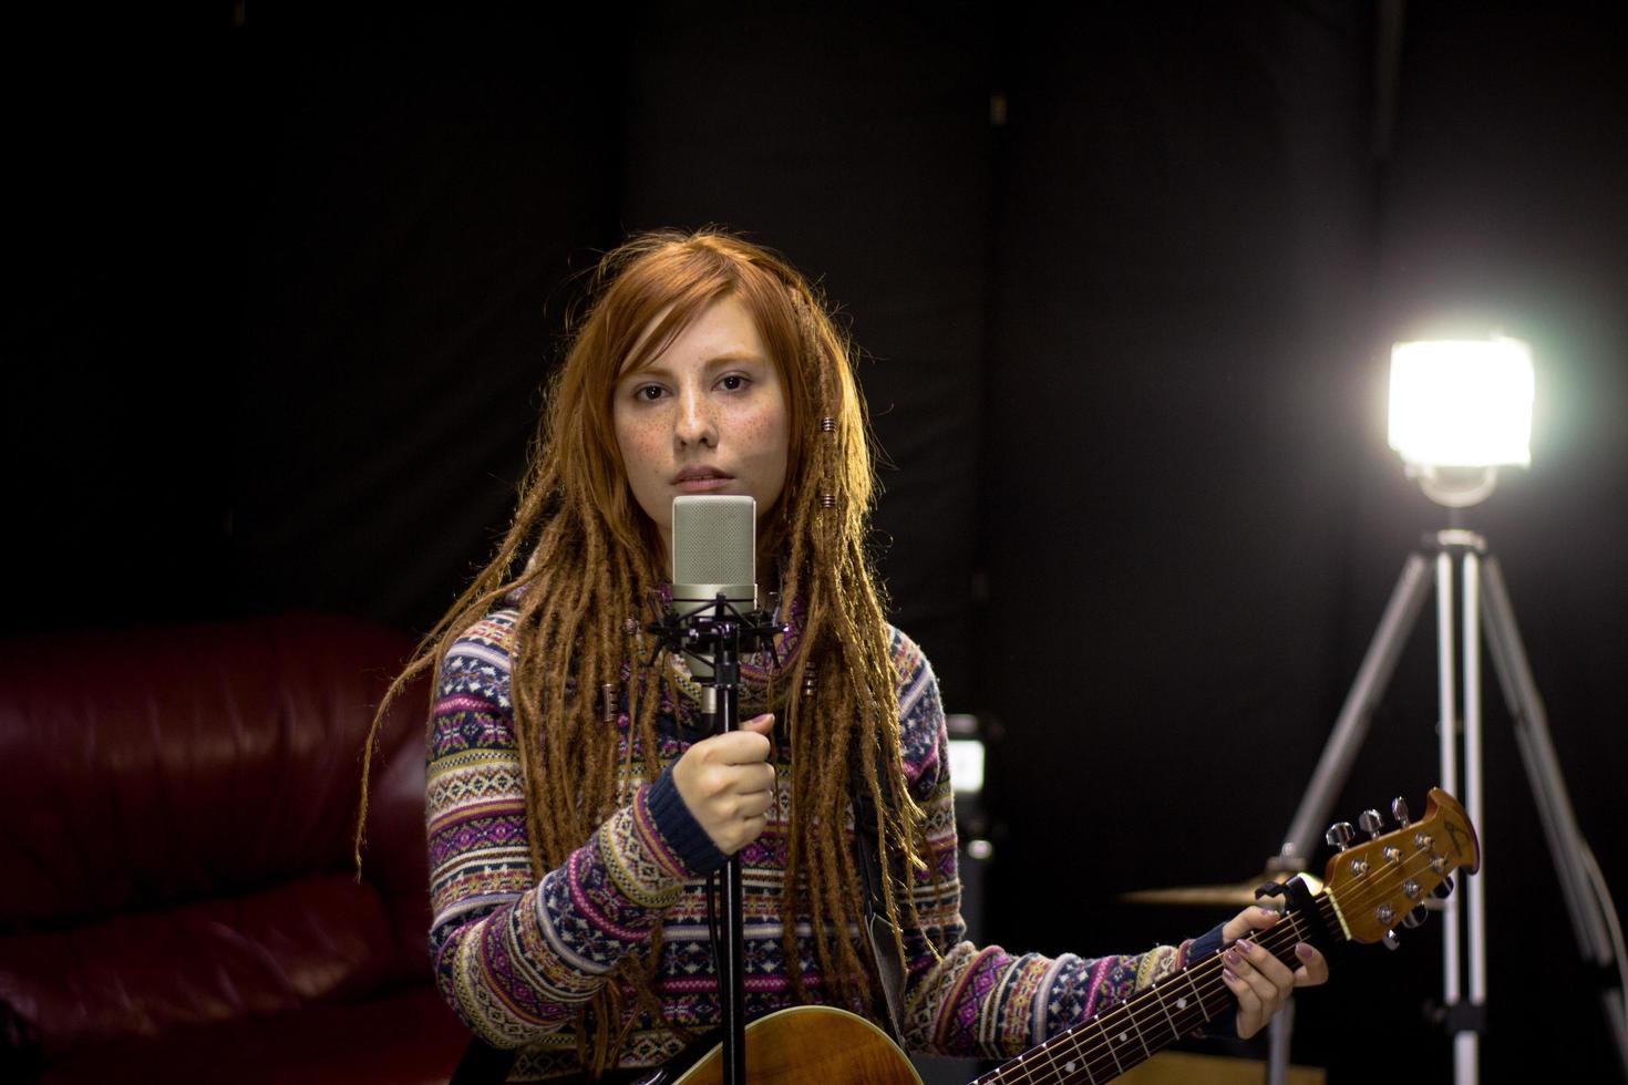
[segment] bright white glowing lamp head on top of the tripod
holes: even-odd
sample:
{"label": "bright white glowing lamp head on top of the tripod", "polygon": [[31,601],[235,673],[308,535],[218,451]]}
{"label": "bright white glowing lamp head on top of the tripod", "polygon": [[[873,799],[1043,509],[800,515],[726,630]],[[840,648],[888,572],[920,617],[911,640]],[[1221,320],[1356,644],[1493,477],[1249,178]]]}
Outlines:
{"label": "bright white glowing lamp head on top of the tripod", "polygon": [[1480,342],[1390,348],[1390,447],[1410,467],[1532,462],[1532,348]]}

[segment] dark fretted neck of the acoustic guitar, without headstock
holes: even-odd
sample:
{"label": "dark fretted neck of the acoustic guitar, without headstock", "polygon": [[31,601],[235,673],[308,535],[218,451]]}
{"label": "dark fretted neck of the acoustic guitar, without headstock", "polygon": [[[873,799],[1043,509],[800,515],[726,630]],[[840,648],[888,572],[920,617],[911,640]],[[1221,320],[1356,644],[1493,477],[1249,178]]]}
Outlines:
{"label": "dark fretted neck of the acoustic guitar, without headstock", "polygon": [[[1327,895],[1319,893],[1309,909],[1288,913],[1275,927],[1260,934],[1255,943],[1293,970],[1299,966],[1294,943],[1324,943],[1330,930],[1338,930],[1338,921]],[[1237,1005],[1221,981],[1221,968],[1219,953],[1206,956],[1052,1036],[985,1074],[974,1085],[1110,1082],[1177,1039],[1193,1038],[1206,1023]]]}

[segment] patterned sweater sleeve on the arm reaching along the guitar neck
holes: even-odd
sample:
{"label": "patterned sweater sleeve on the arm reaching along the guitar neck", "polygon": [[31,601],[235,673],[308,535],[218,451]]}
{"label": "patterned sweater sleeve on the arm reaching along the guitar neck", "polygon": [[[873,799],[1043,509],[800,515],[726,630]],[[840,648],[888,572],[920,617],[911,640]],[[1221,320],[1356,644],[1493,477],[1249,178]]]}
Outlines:
{"label": "patterned sweater sleeve on the arm reaching along the guitar neck", "polygon": [[[1013,955],[965,940],[956,872],[949,737],[938,678],[921,651],[894,633],[905,774],[926,813],[931,864],[918,875],[921,926],[905,932],[905,1044],[912,1051],[1004,1059],[1045,1041],[1185,966],[1193,942],[1133,956]],[[933,877],[936,875],[936,877]]]}

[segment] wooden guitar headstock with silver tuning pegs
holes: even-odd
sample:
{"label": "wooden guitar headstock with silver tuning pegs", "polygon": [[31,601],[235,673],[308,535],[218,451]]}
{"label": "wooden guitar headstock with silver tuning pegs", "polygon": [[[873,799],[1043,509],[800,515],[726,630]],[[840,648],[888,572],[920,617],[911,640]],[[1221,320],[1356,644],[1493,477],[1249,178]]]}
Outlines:
{"label": "wooden guitar headstock with silver tuning pegs", "polygon": [[[1376,831],[1376,820],[1364,818],[1364,828]],[[1348,843],[1351,826],[1330,830],[1330,839],[1337,838]],[[1441,787],[1431,787],[1423,818],[1343,848],[1328,861],[1324,882],[1345,935],[1353,942],[1381,942],[1447,883],[1447,875],[1459,869],[1475,874],[1480,867],[1481,844],[1464,807]]]}

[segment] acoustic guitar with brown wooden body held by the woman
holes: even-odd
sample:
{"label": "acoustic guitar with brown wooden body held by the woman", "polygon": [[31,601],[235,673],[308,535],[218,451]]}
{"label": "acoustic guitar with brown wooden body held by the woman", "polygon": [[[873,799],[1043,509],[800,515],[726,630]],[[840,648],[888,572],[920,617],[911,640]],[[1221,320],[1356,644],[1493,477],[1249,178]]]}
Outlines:
{"label": "acoustic guitar with brown wooden body held by the woman", "polygon": [[[1403,815],[1405,817],[1405,815]],[[1348,942],[1394,942],[1397,924],[1418,926],[1424,900],[1446,896],[1449,875],[1481,865],[1475,826],[1459,800],[1433,787],[1424,817],[1379,834],[1377,817],[1364,818],[1371,839],[1346,846],[1328,861],[1324,890],[1289,882],[1289,908],[1255,942],[1289,968],[1296,942],[1328,953]],[[1348,844],[1340,823],[1330,839]],[[1195,961],[1135,997],[1031,1048],[974,1085],[1094,1085],[1151,1059],[1156,1051],[1193,1036],[1234,1005],[1221,983],[1221,955]],[[920,1085],[905,1054],[876,1025],[845,1010],[803,1005],[746,1026],[746,1077],[752,1085]],[[640,1085],[721,1085],[723,1049],[669,1065]]]}

